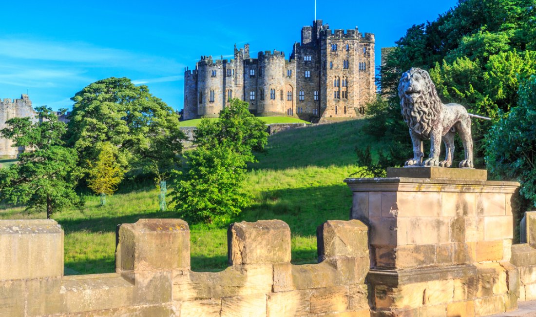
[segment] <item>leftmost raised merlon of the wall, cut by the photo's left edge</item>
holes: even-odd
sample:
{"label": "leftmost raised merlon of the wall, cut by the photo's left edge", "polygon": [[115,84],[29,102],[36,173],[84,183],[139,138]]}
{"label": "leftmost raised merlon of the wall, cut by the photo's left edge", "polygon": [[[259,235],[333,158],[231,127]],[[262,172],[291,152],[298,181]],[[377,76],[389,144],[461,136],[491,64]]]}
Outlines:
{"label": "leftmost raised merlon of the wall, cut by the photo's left edge", "polygon": [[0,281],[62,276],[63,231],[54,220],[0,220],[0,254]]}

